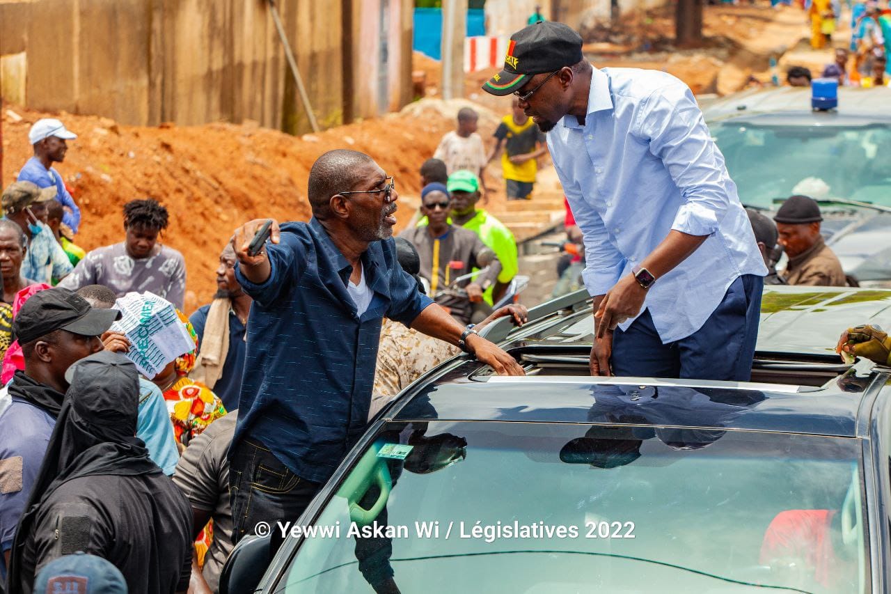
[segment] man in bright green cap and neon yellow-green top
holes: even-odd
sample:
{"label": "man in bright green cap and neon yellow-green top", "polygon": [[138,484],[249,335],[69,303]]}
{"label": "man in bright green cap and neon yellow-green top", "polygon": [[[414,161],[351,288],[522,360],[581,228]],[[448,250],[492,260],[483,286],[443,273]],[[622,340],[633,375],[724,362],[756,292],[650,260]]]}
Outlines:
{"label": "man in bright green cap and neon yellow-green top", "polygon": [[[513,238],[511,229],[495,219],[485,209],[478,209],[479,202],[479,177],[466,169],[455,171],[448,177],[446,184],[449,195],[452,198],[452,222],[470,229],[495,252],[502,270],[498,275],[495,285],[486,289],[483,299],[492,305],[501,299],[507,285],[517,275],[519,266],[517,263],[517,242]],[[427,220],[421,219],[419,225],[426,225]]]}

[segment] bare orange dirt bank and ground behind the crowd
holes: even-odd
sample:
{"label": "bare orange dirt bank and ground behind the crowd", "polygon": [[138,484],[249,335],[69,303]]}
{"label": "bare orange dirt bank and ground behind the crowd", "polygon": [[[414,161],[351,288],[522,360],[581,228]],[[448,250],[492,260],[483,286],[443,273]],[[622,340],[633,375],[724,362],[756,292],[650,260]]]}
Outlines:
{"label": "bare orange dirt bank and ground behind the crowd", "polygon": [[[586,53],[599,66],[663,69],[697,93],[723,93],[742,87],[750,75],[769,77],[768,58],[781,55],[806,35],[803,12],[774,11],[768,4],[707,6],[703,48],[673,48],[672,28],[670,8],[633,14],[616,30],[634,34],[604,35],[602,28],[590,27],[585,33],[590,42]],[[3,186],[13,181],[31,155],[30,125],[45,116],[61,118],[79,135],[69,143],[66,161],[57,166],[83,212],[77,243],[90,250],[121,241],[122,205],[135,198],[158,199],[171,213],[163,241],[183,252],[186,260],[185,308],[191,312],[214,292],[218,253],[241,222],[261,217],[308,219],[309,168],[325,151],[343,147],[363,151],[396,177],[402,194],[396,213],[401,228],[416,210],[421,162],[454,128],[459,107],[478,107],[479,133],[491,144],[498,120],[510,110],[509,98],[480,89],[495,70],[467,76],[465,97],[474,103],[443,103],[437,101],[438,62],[415,54],[413,69],[425,73],[427,99],[398,114],[300,137],[250,122],[138,128],[105,118],[44,114],[6,104]],[[497,168],[494,162],[487,172],[494,192],[486,207],[495,212],[504,206]]]}

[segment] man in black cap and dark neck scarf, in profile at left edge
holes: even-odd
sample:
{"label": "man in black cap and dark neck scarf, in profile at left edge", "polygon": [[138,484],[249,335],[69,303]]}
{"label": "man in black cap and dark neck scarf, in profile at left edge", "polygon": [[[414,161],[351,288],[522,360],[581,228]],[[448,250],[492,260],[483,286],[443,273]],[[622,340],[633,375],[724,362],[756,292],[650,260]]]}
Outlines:
{"label": "man in black cap and dark neck scarf, in profile at left edge", "polygon": [[68,381],[65,371],[79,359],[102,351],[103,332],[120,317],[116,309],[93,309],[68,289],[32,296],[12,322],[25,358],[12,384],[0,391],[0,577],[16,524],[37,479],[46,444]]}

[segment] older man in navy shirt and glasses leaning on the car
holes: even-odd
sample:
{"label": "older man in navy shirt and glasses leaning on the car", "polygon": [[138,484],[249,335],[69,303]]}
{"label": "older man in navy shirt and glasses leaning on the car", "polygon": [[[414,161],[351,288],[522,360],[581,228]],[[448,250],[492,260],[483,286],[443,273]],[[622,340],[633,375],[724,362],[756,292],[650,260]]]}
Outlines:
{"label": "older man in navy shirt and glasses leaning on the car", "polygon": [[[266,219],[233,237],[236,276],[254,299],[229,453],[235,540],[259,521],[296,520],[363,433],[385,316],[462,347],[500,374],[523,373],[399,267],[398,194],[371,157],[324,153],[308,194],[309,223],[274,223],[257,256],[247,248]],[[281,534],[273,533],[275,549]]]}

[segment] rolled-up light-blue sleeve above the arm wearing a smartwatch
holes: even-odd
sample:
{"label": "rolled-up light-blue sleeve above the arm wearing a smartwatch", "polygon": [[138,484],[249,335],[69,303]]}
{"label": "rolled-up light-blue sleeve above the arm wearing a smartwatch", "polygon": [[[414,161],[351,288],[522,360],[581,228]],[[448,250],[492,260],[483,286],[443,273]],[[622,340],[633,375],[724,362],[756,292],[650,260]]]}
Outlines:
{"label": "rolled-up light-blue sleeve above the arm wearing a smartwatch", "polygon": [[711,235],[730,205],[723,156],[712,140],[702,111],[683,83],[654,91],[642,104],[633,133],[650,143],[681,191],[683,204],[672,229]]}

